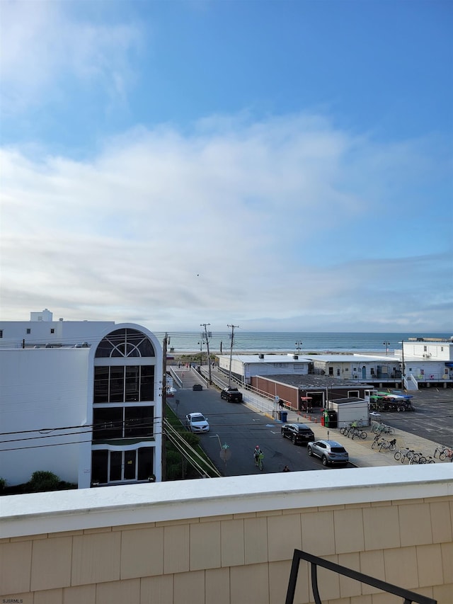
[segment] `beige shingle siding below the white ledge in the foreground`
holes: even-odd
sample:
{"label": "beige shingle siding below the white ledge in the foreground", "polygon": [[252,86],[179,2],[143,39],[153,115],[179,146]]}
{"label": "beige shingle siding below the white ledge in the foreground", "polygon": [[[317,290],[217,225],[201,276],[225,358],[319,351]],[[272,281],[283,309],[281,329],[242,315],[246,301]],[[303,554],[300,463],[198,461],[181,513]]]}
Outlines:
{"label": "beige shingle siding below the white ledge in the foreground", "polygon": [[[382,505],[386,503],[386,505]],[[4,539],[0,596],[23,604],[277,604],[294,548],[453,601],[453,497],[190,518]],[[319,569],[323,604],[391,604]],[[311,595],[300,565],[297,604]]]}

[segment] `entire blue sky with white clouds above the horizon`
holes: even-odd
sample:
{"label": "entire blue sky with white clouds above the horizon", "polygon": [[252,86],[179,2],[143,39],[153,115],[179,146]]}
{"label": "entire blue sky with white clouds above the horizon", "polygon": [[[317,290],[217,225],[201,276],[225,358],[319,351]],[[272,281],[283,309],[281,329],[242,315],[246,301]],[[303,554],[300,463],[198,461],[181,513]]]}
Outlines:
{"label": "entire blue sky with white clouds above the horizon", "polygon": [[451,1],[11,1],[1,318],[453,329]]}

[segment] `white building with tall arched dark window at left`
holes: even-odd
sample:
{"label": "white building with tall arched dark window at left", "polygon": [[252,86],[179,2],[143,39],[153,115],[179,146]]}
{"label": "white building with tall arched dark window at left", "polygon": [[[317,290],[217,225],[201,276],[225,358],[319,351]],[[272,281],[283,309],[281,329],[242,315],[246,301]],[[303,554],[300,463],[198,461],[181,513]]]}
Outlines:
{"label": "white building with tall arched dark window at left", "polygon": [[9,343],[0,348],[1,478],[21,484],[45,470],[79,488],[160,481],[163,363],[154,334],[47,319],[3,321],[0,331]]}

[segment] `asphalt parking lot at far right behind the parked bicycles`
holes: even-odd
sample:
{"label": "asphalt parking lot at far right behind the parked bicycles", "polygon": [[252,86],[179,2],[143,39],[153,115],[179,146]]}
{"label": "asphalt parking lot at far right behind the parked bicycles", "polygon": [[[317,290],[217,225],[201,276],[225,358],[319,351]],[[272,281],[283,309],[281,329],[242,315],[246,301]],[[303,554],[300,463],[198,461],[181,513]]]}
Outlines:
{"label": "asphalt parking lot at far right behind the parked bicycles", "polygon": [[411,394],[414,412],[381,412],[381,421],[453,448],[453,389],[423,388]]}

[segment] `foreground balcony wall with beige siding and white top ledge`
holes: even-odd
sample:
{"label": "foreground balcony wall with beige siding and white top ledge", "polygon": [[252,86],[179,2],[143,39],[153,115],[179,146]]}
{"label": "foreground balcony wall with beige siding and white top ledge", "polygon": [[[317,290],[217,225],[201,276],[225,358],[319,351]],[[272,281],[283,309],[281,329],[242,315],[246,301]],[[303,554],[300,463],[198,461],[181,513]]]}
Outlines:
{"label": "foreground balcony wall with beige siding and white top ledge", "polygon": [[[0,498],[0,596],[22,604],[282,604],[295,550],[453,602],[453,464]],[[401,598],[318,568],[323,604]],[[314,602],[302,560],[295,604]],[[410,601],[410,600],[407,600]]]}

